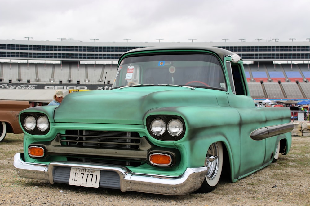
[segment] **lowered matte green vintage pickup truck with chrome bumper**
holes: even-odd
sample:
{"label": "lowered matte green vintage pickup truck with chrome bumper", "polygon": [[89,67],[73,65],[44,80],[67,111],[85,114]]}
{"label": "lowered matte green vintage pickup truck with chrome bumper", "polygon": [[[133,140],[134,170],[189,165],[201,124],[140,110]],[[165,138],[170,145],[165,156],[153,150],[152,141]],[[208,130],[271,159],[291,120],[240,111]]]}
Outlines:
{"label": "lowered matte green vintage pickup truck with chrome bumper", "polygon": [[290,109],[255,107],[243,63],[216,47],[149,47],[119,59],[111,90],[20,112],[20,177],[165,195],[210,192],[285,155]]}

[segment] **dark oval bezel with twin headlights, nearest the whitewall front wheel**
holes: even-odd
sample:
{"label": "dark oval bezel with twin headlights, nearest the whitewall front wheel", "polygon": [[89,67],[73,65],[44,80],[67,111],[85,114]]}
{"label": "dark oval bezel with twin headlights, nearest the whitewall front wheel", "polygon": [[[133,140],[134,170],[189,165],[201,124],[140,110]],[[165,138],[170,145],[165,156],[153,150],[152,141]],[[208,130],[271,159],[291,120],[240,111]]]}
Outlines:
{"label": "dark oval bezel with twin headlights, nearest the whitewall front wheel", "polygon": [[[179,132],[172,131],[172,124],[177,122],[176,125],[179,125]],[[154,132],[154,125],[155,122],[162,122],[165,126],[160,133]],[[168,128],[170,125],[170,129]],[[148,129],[149,134],[158,140],[164,141],[177,141],[184,137],[185,134],[185,122],[182,117],[176,115],[150,115],[146,118],[146,126]],[[170,130],[170,131],[169,131]]]}

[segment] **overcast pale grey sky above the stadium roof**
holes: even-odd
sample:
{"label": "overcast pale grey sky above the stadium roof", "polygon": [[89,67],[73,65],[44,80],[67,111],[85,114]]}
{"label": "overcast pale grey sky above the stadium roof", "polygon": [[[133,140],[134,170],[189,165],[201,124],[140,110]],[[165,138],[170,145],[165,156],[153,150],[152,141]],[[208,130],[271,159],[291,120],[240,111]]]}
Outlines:
{"label": "overcast pale grey sky above the stadium roof", "polygon": [[1,0],[0,39],[308,41],[308,0]]}

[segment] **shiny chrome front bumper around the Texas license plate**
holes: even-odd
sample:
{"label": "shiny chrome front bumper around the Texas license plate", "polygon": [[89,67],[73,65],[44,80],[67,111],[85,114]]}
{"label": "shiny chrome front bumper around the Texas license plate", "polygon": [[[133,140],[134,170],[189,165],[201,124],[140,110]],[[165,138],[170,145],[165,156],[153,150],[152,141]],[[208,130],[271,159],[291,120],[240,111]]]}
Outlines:
{"label": "shiny chrome front bumper around the Texas license plate", "polygon": [[[123,166],[110,166],[103,164],[59,161],[48,165],[24,162],[24,153],[16,153],[14,167],[20,177],[45,180],[54,183],[56,168],[83,167],[115,172],[119,176],[122,192],[137,191],[163,195],[185,195],[196,191],[205,179],[208,172],[206,166],[187,168],[180,176],[166,176],[157,174],[138,174],[131,172]],[[69,181],[69,179],[68,179]]]}

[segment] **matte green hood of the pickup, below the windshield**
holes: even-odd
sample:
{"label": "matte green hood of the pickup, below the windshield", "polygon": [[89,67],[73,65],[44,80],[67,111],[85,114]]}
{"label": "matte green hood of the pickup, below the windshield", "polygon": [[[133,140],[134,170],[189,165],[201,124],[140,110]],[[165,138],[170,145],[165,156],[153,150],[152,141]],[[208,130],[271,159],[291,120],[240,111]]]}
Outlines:
{"label": "matte green hood of the pickup, below the windshield", "polygon": [[183,106],[219,107],[228,106],[228,101],[223,91],[182,87],[81,91],[64,98],[55,109],[54,121],[143,125],[149,110]]}

